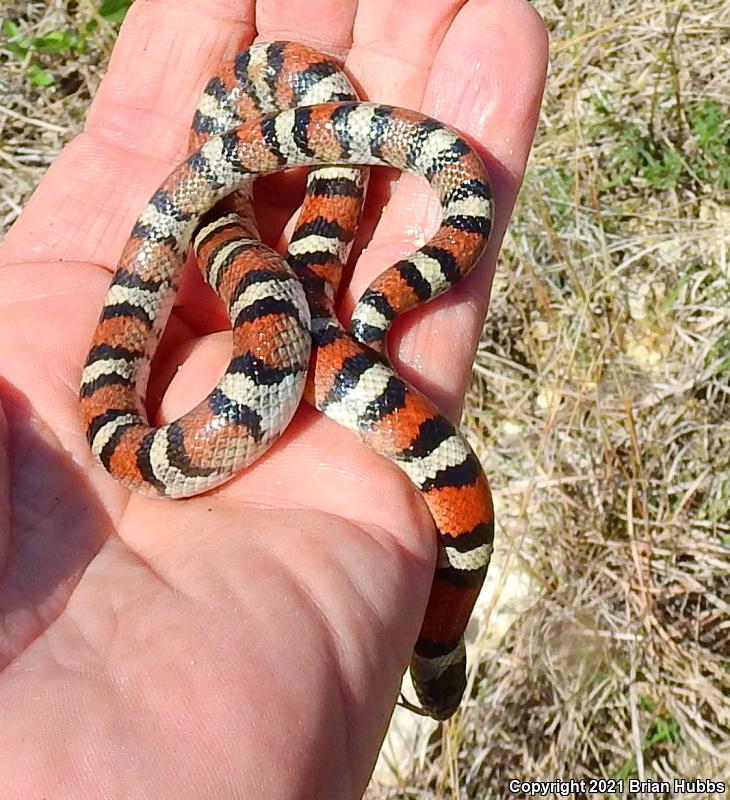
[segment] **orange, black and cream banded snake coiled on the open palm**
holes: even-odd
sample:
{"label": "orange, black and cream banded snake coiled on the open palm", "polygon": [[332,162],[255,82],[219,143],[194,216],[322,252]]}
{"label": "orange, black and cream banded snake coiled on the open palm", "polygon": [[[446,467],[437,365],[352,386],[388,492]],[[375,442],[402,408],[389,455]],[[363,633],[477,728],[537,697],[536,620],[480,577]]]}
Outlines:
{"label": "orange, black and cream banded snake coiled on the open palm", "polygon": [[[338,293],[371,166],[425,179],[442,219],[422,247],[365,290],[347,330]],[[310,170],[282,257],[261,240],[252,186],[294,167]],[[333,56],[296,42],[253,44],[207,83],[187,158],[135,222],[80,382],[91,452],[142,494],[192,497],[252,467],[303,397],[397,465],[438,532],[410,663],[420,711],[437,720],[455,713],[466,689],[463,634],[489,565],[494,512],[472,448],[393,369],[387,334],[397,317],[469,272],[492,218],[487,169],[457,131],[417,111],[360,100]],[[150,363],[191,249],[227,308],[231,360],[191,411],[153,425],[145,408]]]}

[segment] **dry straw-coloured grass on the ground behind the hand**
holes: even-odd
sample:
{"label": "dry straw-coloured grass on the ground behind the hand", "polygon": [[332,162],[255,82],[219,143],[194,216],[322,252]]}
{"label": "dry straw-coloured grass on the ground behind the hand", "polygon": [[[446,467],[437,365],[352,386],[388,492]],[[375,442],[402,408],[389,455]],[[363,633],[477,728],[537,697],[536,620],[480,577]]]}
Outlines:
{"label": "dry straw-coloured grass on the ground behind the hand", "polygon": [[[551,75],[466,419],[535,590],[371,800],[730,780],[730,5],[535,5]],[[80,128],[114,36],[94,8],[3,6],[30,35],[97,21],[87,54],[0,49],[4,225]]]}

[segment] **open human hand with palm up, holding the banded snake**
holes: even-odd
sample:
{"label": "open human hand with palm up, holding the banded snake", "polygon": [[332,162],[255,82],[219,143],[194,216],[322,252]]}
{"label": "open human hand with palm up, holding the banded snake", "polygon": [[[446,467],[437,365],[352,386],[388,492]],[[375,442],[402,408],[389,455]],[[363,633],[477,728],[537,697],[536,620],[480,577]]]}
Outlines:
{"label": "open human hand with palm up, holding the banded snake", "polygon": [[[543,90],[537,14],[522,0],[137,0],[84,132],[0,250],[4,800],[358,798],[372,770],[435,555],[404,476],[302,407],[223,489],[130,496],[91,459],[77,414],[110,273],[184,156],[206,79],[275,38],[346,57],[368,99],[452,124],[487,161],[487,256],[391,339],[401,372],[458,416]],[[428,188],[394,178],[373,180],[388,207],[369,207],[345,313],[435,227]],[[298,185],[257,189],[270,241],[286,222],[273,206],[288,215]],[[158,419],[190,408],[227,361],[225,320],[194,272],[178,299],[150,385]]]}

